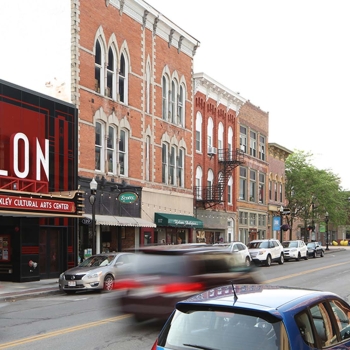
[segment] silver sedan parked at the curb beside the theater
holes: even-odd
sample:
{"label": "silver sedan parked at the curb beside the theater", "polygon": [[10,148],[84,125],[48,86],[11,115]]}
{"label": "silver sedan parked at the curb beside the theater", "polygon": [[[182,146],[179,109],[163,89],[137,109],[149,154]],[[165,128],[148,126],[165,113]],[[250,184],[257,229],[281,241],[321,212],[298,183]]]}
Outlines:
{"label": "silver sedan parked at the curb beside the theater", "polygon": [[116,275],[130,266],[133,257],[132,253],[93,255],[63,272],[59,277],[59,288],[67,294],[82,290],[112,290]]}

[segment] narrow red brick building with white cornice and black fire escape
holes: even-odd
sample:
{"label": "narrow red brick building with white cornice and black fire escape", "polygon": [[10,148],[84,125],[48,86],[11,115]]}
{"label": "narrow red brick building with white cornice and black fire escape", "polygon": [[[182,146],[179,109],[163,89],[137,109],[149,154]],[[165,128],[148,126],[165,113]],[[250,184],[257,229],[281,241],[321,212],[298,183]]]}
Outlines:
{"label": "narrow red brick building with white cornice and black fire escape", "polygon": [[194,74],[194,84],[194,207],[203,221],[197,241],[232,241],[237,238],[237,168],[244,162],[237,116],[246,101],[204,73]]}

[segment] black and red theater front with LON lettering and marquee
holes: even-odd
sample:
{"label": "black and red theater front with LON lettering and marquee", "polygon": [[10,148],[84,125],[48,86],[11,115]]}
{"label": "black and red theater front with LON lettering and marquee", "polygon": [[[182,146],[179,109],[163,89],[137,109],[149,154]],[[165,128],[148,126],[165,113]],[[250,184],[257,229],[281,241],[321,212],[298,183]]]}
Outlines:
{"label": "black and red theater front with LON lettering and marquee", "polygon": [[56,278],[76,264],[77,110],[0,80],[0,279]]}

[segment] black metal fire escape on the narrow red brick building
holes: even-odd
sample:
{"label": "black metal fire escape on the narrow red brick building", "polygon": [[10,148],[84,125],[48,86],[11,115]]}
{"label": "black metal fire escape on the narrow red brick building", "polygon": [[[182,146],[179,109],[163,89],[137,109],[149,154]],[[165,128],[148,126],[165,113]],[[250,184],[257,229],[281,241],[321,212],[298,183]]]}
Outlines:
{"label": "black metal fire escape on the narrow red brick building", "polygon": [[212,157],[217,154],[220,165],[217,183],[212,186],[196,186],[194,188],[194,198],[196,206],[203,208],[211,208],[224,202],[224,190],[228,184],[233,170],[244,164],[244,152],[237,148],[230,150],[228,148],[218,149],[209,147],[208,155]]}

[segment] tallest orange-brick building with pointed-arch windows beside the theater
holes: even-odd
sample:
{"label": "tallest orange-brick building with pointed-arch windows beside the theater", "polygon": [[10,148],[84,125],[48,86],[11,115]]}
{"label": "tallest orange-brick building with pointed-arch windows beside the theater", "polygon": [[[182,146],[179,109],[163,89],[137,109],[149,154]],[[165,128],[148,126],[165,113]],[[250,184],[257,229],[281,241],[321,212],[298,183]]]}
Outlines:
{"label": "tallest orange-brick building with pointed-arch windows beside the theater", "polygon": [[[78,175],[87,219],[95,210],[96,251],[174,243],[178,236],[192,241],[202,225],[192,216],[192,69],[199,42],[142,0],[71,3]],[[92,245],[86,223],[81,254]]]}

